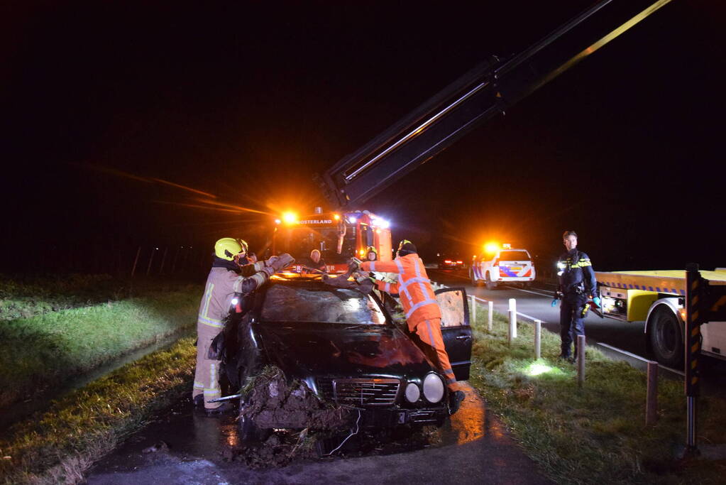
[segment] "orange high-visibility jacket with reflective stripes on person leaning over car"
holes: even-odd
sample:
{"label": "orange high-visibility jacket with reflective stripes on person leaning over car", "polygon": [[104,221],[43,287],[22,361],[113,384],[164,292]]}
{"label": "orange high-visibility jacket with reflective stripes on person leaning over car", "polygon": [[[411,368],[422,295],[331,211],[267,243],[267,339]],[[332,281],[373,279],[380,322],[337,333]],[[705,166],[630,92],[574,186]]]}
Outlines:
{"label": "orange high-visibility jacket with reflective stripes on person leaning over car", "polygon": [[431,282],[423,267],[423,261],[416,253],[407,254],[393,261],[365,261],[361,264],[363,271],[398,273],[399,282],[388,283],[376,281],[378,289],[386,293],[398,293],[401,305],[406,312],[409,330],[413,330],[419,322],[441,318],[439,304],[433,294]]}

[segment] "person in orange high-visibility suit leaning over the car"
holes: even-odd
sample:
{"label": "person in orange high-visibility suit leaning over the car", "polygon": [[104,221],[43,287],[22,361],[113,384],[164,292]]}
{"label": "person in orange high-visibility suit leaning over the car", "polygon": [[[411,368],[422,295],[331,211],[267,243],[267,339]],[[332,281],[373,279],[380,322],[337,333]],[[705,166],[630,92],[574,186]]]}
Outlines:
{"label": "person in orange high-visibility suit leaning over the car", "polygon": [[457,389],[454,371],[449,363],[449,355],[446,354],[444,338],[441,335],[441,310],[436,303],[436,296],[433,294],[423,261],[416,252],[416,246],[409,240],[402,240],[395,260],[365,261],[361,264],[361,269],[399,275],[396,283],[376,279],[376,286],[386,293],[400,295],[409,332],[418,335],[425,346],[433,351],[426,354],[431,356],[436,367],[446,378],[446,386],[450,391],[449,407],[453,414],[459,409],[464,399],[464,392]]}

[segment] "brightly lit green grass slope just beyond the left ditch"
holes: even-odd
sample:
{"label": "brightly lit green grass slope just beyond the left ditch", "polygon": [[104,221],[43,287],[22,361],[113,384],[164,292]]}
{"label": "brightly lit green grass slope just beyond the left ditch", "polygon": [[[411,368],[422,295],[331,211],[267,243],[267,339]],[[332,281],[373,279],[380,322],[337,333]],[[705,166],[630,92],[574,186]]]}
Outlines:
{"label": "brightly lit green grass slope just beyond the left ditch", "polygon": [[200,294],[197,286],[177,285],[0,322],[0,408],[191,328]]}

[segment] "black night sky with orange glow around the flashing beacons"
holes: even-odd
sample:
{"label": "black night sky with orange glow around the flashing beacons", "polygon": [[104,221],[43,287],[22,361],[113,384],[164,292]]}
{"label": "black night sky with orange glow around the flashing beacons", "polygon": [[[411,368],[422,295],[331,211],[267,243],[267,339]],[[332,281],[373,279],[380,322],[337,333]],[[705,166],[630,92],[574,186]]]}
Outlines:
{"label": "black night sky with orange glow around the flashing beacons", "polygon": [[[15,3],[3,245],[33,258],[260,245],[274,214],[325,205],[312,174],[591,2]],[[364,208],[426,257],[496,239],[549,262],[574,229],[596,269],[726,266],[717,3],[674,0]]]}

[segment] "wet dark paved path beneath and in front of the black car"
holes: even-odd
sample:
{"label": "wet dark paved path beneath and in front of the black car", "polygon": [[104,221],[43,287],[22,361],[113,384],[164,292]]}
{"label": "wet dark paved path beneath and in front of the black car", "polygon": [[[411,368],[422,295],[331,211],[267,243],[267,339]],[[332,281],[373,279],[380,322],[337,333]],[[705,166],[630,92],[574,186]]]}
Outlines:
{"label": "wet dark paved path beneath and in front of the black car", "polygon": [[[311,436],[275,431],[244,444],[237,416],[195,412],[188,394],[86,475],[92,485],[173,484],[545,484],[472,388],[442,428],[360,431],[320,457]],[[349,433],[328,436],[326,449]],[[319,438],[320,436],[317,436]]]}

